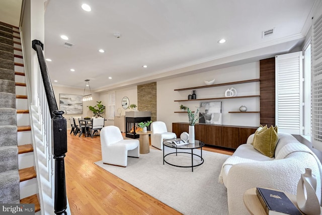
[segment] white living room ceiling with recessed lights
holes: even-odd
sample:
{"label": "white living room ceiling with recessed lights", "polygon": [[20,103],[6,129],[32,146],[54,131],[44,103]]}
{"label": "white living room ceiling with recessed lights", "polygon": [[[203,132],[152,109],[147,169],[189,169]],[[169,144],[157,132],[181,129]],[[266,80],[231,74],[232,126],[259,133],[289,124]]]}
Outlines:
{"label": "white living room ceiling with recessed lights", "polygon": [[93,0],[86,12],[83,1],[49,1],[47,67],[54,85],[84,88],[89,79],[100,92],[271,57],[303,42],[317,2]]}

